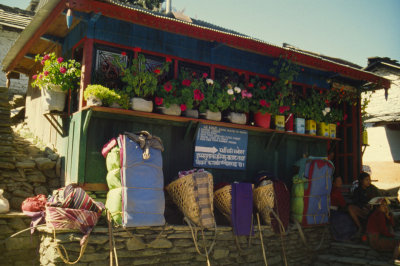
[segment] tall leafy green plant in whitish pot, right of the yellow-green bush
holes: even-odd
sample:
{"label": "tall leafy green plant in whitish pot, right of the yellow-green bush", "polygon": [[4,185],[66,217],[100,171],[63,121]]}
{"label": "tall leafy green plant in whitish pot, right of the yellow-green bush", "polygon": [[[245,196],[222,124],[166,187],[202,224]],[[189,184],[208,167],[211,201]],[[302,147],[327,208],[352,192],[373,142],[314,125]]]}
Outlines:
{"label": "tall leafy green plant in whitish pot, right of the yellow-green bush", "polygon": [[[126,56],[122,52],[122,56]],[[155,69],[146,68],[146,58],[139,54],[133,59],[130,66],[125,65],[119,57],[114,59],[122,81],[126,84],[124,90],[131,97],[132,109],[136,111],[152,112],[153,96],[157,90],[158,77],[168,71],[169,62]]]}

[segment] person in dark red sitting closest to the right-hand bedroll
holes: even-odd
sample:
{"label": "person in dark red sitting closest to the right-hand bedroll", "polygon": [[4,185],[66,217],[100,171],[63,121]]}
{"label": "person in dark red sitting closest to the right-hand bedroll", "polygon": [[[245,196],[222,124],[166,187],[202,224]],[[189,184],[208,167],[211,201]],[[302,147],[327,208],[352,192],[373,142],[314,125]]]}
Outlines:
{"label": "person in dark red sitting closest to the right-hand bedroll", "polygon": [[342,178],[333,178],[331,190],[330,224],[332,236],[337,241],[348,241],[357,232],[357,226],[349,215],[348,204],[343,197],[341,187]]}

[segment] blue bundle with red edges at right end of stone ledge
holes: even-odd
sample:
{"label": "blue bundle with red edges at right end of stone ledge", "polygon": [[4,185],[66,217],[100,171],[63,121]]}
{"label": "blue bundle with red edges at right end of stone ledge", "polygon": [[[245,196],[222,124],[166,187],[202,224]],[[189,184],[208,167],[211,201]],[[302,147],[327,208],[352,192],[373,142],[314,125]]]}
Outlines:
{"label": "blue bundle with red edges at right end of stone ledge", "polygon": [[334,167],[326,159],[307,160],[304,191],[303,225],[326,224],[329,221],[330,193]]}

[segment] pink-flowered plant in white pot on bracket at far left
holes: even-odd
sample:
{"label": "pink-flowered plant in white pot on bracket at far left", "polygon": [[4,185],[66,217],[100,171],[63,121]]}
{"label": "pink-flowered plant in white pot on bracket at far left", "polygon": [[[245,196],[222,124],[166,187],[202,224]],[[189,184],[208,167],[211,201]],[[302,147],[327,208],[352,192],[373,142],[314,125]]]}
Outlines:
{"label": "pink-flowered plant in white pot on bracket at far left", "polygon": [[75,89],[81,77],[81,64],[73,59],[64,60],[55,53],[36,55],[42,71],[32,76],[33,87],[42,89],[42,96],[49,111],[63,111],[68,90]]}

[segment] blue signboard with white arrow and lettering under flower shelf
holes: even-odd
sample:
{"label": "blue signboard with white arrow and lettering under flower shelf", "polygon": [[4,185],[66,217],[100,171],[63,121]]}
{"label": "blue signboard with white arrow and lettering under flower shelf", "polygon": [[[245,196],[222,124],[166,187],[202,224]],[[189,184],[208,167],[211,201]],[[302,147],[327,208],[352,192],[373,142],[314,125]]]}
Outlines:
{"label": "blue signboard with white arrow and lettering under flower shelf", "polygon": [[196,136],[193,165],[244,170],[247,139],[246,130],[201,124]]}

